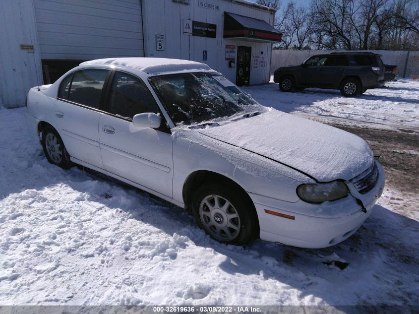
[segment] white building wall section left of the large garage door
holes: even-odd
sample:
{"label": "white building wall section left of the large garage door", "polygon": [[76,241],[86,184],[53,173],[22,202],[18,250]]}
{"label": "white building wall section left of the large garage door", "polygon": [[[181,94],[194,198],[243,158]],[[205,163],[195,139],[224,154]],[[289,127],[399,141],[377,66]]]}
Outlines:
{"label": "white building wall section left of the large garage door", "polygon": [[[0,1],[0,21],[0,102],[21,107],[29,89],[43,84],[32,0]],[[21,50],[21,44],[34,50]]]}

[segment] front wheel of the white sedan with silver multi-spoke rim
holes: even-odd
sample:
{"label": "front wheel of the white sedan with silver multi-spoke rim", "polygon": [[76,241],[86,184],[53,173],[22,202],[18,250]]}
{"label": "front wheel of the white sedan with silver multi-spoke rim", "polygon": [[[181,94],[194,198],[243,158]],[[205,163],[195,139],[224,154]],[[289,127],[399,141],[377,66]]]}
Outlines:
{"label": "front wheel of the white sedan with silver multi-spoke rim", "polygon": [[208,183],[192,198],[197,225],[211,238],[246,246],[259,237],[256,209],[245,192],[232,184]]}

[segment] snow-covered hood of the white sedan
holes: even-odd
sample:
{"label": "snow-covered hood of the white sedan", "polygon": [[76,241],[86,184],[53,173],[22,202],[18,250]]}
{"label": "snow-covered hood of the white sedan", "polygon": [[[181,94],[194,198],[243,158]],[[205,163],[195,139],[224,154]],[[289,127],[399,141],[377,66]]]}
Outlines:
{"label": "snow-covered hood of the white sedan", "polygon": [[285,164],[319,182],[350,180],[374,160],[360,137],[275,109],[199,132]]}

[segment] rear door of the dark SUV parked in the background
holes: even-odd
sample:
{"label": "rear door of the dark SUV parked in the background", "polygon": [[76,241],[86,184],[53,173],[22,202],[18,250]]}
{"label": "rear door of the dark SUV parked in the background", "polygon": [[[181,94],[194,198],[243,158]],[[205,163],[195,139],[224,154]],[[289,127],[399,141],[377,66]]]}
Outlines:
{"label": "rear door of the dark SUV parked in the background", "polygon": [[342,78],[349,67],[348,58],[340,55],[330,55],[322,70],[325,87],[339,87]]}

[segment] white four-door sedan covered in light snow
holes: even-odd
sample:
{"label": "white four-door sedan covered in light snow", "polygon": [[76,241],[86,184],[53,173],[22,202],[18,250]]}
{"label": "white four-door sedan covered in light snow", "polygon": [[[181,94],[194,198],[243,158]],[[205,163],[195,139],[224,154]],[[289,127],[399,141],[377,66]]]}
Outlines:
{"label": "white four-door sedan covered in light snow", "polygon": [[27,117],[50,163],[79,164],[186,208],[223,243],[337,244],[384,187],[364,140],[264,107],[203,63],[84,62],[32,88]]}

